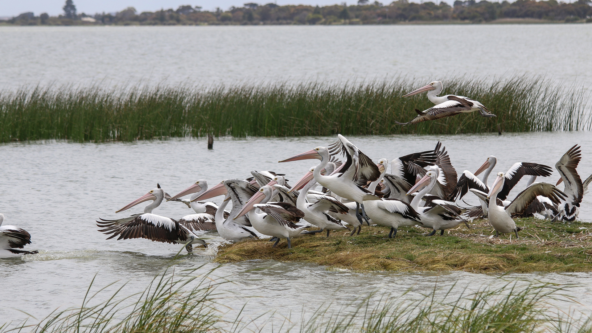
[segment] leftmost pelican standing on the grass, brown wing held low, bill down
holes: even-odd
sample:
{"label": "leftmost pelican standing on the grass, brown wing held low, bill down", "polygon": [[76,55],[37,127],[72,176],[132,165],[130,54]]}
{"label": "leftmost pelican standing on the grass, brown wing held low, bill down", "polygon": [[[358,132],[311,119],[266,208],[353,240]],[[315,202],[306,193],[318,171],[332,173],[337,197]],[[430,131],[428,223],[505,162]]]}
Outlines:
{"label": "leftmost pelican standing on the grass, brown wing held low, bill down", "polygon": [[[299,236],[300,232],[306,228],[294,223],[304,217],[304,213],[289,203],[268,202],[273,192],[273,188],[269,185],[259,188],[259,191],[244,204],[243,209],[234,219],[248,213],[255,230],[263,235],[277,238],[274,247],[278,245],[281,238],[285,238],[288,241],[288,248],[291,248],[290,239]],[[263,213],[257,213],[257,209]]]}

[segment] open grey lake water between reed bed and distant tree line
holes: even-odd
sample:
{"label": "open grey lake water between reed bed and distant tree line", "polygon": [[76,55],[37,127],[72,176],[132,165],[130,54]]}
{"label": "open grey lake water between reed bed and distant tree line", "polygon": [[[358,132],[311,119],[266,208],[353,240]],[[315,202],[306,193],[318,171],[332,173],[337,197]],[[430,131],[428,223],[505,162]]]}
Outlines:
{"label": "open grey lake water between reed bed and distant tree line", "polygon": [[0,90],[524,73],[592,84],[592,24],[0,27],[0,45]]}

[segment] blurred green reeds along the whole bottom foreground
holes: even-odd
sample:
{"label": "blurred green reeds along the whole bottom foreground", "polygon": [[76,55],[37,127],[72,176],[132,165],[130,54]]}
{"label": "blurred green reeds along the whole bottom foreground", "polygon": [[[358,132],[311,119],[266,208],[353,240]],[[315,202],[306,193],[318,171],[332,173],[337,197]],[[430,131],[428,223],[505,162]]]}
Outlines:
{"label": "blurred green reeds along the whole bottom foreground", "polygon": [[[329,303],[310,308],[303,301],[299,315],[269,311],[255,318],[243,315],[239,308],[231,318],[226,315],[224,319],[230,308],[220,303],[224,294],[215,293],[220,279],[208,277],[179,278],[165,272],[143,293],[127,297],[122,296],[126,294],[125,285],[115,293],[105,287],[92,295],[87,292],[77,308],[56,310],[41,320],[0,324],[0,333],[592,332],[589,314],[551,304],[576,305],[566,296],[573,286],[497,281],[472,291],[458,286],[416,287],[377,299],[362,284],[363,294],[369,296],[347,305]],[[246,309],[249,301],[244,302]]]}

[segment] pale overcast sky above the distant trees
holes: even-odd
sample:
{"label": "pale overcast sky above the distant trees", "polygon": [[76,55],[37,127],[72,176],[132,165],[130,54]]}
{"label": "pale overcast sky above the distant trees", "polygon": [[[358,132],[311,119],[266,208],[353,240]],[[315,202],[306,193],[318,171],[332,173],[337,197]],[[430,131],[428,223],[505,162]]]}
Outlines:
{"label": "pale overcast sky above the distant trees", "polygon": [[[121,9],[125,9],[126,7],[134,7],[137,9],[137,11],[142,12],[157,11],[160,8],[176,9],[179,7],[179,5],[201,6],[204,10],[213,10],[216,7],[220,7],[222,9],[228,9],[231,6],[243,7],[243,4],[246,2],[256,2],[258,4],[268,4],[269,2],[275,2],[278,5],[304,4],[324,6],[341,4],[344,1],[347,2],[348,5],[353,5],[358,2],[358,0],[74,0],[74,4],[76,5],[76,10],[78,12],[95,14],[96,12],[121,11]],[[419,0],[416,1],[420,2]],[[33,12],[36,16],[42,12],[47,12],[52,16],[62,14],[64,2],[65,0],[0,0],[0,17],[16,16],[23,12]],[[381,2],[384,4],[389,4],[392,2],[392,0]]]}

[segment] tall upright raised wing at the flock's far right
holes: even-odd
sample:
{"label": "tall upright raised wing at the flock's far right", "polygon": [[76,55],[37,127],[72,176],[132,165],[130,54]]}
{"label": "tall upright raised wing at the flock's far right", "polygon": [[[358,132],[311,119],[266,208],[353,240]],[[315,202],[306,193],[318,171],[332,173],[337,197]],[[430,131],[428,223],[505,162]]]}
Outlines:
{"label": "tall upright raised wing at the flock's far right", "polygon": [[564,193],[572,204],[580,203],[584,195],[584,187],[580,175],[575,170],[580,164],[581,151],[578,145],[573,146],[561,156],[555,164],[555,169],[563,178],[565,184]]}

